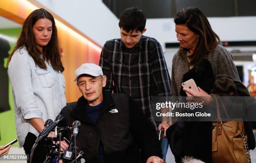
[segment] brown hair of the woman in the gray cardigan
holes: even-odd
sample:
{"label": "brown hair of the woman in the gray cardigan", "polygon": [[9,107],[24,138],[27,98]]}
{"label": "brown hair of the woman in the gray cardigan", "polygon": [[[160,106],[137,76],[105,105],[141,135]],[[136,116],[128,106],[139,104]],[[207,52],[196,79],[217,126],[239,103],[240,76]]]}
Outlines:
{"label": "brown hair of the woman in the gray cardigan", "polygon": [[[198,8],[183,8],[174,17],[174,23],[177,25],[186,25],[189,30],[199,35],[195,51],[189,56],[191,59],[189,65],[199,63],[205,54],[214,51],[220,43],[219,36],[213,32],[208,19]],[[178,52],[179,54],[180,50]]]}

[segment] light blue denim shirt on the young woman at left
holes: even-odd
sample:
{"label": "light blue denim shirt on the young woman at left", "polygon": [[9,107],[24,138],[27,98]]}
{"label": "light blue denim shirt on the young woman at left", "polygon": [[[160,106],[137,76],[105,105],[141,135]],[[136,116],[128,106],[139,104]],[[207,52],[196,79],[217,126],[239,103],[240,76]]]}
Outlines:
{"label": "light blue denim shirt on the young woman at left", "polygon": [[28,119],[55,120],[66,105],[65,80],[60,71],[46,63],[47,70],[36,66],[26,48],[19,48],[10,60],[8,73],[13,88],[15,125],[20,147],[28,132],[39,132]]}

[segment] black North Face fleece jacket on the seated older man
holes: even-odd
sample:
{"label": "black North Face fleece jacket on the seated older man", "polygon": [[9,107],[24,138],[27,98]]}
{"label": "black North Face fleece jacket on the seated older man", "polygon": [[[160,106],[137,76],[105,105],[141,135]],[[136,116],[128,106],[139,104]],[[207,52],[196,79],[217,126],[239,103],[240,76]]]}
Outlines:
{"label": "black North Face fleece jacket on the seated older man", "polygon": [[61,110],[66,126],[74,120],[82,125],[77,135],[77,146],[87,163],[99,162],[99,143],[104,145],[106,163],[136,163],[138,149],[146,159],[152,155],[161,157],[160,142],[150,120],[127,95],[103,91],[103,105],[97,124],[92,123],[84,111],[88,105],[84,97],[69,103]]}

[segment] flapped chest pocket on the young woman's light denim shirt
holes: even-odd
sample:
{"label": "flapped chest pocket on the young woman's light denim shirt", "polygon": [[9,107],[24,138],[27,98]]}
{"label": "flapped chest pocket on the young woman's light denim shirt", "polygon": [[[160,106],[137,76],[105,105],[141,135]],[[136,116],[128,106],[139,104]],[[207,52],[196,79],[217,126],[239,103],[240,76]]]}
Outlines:
{"label": "flapped chest pocket on the young woman's light denim shirt", "polygon": [[54,85],[54,75],[50,70],[45,70],[42,68],[35,70],[43,88],[51,88]]}

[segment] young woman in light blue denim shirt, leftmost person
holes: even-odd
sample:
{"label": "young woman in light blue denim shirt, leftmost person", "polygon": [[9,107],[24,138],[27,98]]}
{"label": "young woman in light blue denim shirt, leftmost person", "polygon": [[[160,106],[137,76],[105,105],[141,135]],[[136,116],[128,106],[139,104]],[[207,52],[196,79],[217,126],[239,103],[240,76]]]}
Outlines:
{"label": "young woman in light blue denim shirt, leftmost person", "polygon": [[[44,121],[54,120],[66,105],[57,29],[48,11],[41,8],[28,15],[7,65],[18,141],[25,153],[30,154]],[[67,143],[61,143],[61,148],[66,147]],[[39,143],[33,162],[45,159],[44,144]]]}

